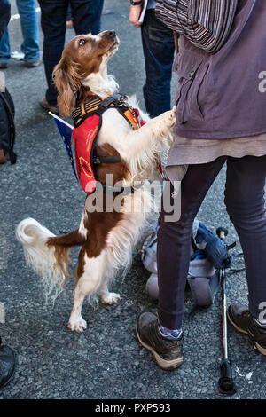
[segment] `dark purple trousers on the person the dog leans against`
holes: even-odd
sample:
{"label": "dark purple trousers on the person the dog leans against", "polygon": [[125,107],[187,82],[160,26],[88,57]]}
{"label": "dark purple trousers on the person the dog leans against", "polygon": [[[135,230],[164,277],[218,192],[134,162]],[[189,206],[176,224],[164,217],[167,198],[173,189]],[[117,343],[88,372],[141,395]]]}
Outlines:
{"label": "dark purple trousers on the person the dog leans against", "polygon": [[[184,287],[190,262],[192,222],[226,157],[191,165],[181,185],[181,217],[158,232],[159,319],[168,328],[182,327]],[[266,156],[227,159],[225,203],[244,252],[249,309],[258,318],[266,302]],[[217,204],[219,201],[217,201]],[[237,283],[236,283],[237,285]]]}

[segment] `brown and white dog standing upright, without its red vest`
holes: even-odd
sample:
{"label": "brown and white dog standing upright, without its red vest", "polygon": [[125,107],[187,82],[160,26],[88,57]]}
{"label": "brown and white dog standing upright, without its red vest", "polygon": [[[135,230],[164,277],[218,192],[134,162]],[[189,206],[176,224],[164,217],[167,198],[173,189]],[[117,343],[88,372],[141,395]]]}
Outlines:
{"label": "brown and white dog standing upright, without its red vest", "polygon": [[[119,40],[113,31],[98,35],[78,35],[67,43],[62,59],[54,69],[54,82],[59,90],[59,113],[69,116],[75,106],[98,95],[106,98],[118,90],[113,76],[107,75],[107,61],[117,51]],[[131,101],[130,101],[131,100]],[[129,105],[137,107],[135,98]],[[98,155],[120,155],[119,163],[98,166],[98,181],[105,183],[106,174],[113,174],[113,184],[125,187],[147,178],[160,153],[172,141],[175,108],[149,120],[140,111],[145,125],[133,130],[115,108],[102,116],[96,151]],[[120,209],[106,212],[88,210],[88,197],[78,229],[64,236],[55,236],[32,218],[20,222],[17,239],[24,247],[28,264],[42,277],[46,293],[56,295],[69,277],[69,252],[82,246],[76,269],[74,306],[68,327],[82,332],[87,324],[82,319],[82,303],[86,296],[93,301],[100,294],[101,302],[112,304],[119,294],[110,293],[108,284],[121,267],[129,266],[132,248],[137,242],[151,204],[145,185],[123,197]],[[134,209],[132,207],[134,206]]]}

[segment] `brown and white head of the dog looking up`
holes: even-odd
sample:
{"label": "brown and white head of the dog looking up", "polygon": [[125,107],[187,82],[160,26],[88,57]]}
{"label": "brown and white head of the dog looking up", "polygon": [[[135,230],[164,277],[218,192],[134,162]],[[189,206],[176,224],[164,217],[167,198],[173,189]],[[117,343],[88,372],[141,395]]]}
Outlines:
{"label": "brown and white head of the dog looking up", "polygon": [[59,91],[59,114],[69,116],[88,94],[113,93],[117,84],[107,75],[106,64],[117,51],[119,39],[114,31],[98,35],[75,36],[62,53],[53,70],[53,81]]}

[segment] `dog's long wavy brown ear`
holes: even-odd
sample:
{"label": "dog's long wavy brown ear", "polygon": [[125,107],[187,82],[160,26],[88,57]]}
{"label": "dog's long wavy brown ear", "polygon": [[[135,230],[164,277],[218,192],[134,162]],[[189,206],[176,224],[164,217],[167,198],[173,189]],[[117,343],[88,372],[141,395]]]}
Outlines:
{"label": "dog's long wavy brown ear", "polygon": [[67,64],[64,59],[54,67],[52,79],[59,91],[58,106],[59,114],[70,116],[75,107],[77,92],[81,87],[81,78],[77,67],[72,63]]}

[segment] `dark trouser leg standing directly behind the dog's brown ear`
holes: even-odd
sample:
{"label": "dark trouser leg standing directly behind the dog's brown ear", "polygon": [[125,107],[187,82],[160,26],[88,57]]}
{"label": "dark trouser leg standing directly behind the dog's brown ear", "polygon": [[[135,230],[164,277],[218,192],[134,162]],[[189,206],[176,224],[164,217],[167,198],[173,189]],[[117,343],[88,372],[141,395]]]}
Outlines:
{"label": "dark trouser leg standing directly behind the dog's brown ear", "polygon": [[52,83],[53,68],[59,63],[65,44],[67,0],[39,0],[43,29],[43,63],[48,84],[45,97],[57,105],[58,92]]}

